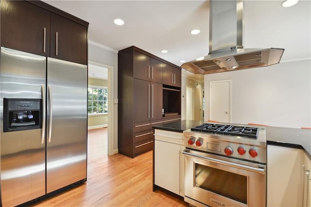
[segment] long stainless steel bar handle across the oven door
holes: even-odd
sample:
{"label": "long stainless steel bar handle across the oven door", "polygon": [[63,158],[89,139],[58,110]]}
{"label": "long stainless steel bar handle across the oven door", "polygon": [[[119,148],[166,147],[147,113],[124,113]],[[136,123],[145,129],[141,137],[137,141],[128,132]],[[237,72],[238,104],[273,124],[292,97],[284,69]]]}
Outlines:
{"label": "long stainless steel bar handle across the oven door", "polygon": [[232,163],[232,162],[227,162],[224,160],[220,160],[220,159],[215,159],[215,158],[211,158],[211,157],[206,157],[206,156],[202,156],[202,155],[195,155],[189,152],[185,152],[183,151],[183,155],[185,156],[190,156],[190,157],[196,157],[199,159],[204,159],[210,162],[214,162],[217,164],[222,164],[222,165],[226,165],[229,167],[235,167],[235,168],[239,168],[242,170],[247,170],[247,171],[251,171],[251,172],[255,172],[255,173],[259,173],[259,174],[265,174],[265,168],[254,168],[254,167],[250,167],[250,166],[246,166],[246,165],[241,165],[241,164],[237,164],[237,163]]}

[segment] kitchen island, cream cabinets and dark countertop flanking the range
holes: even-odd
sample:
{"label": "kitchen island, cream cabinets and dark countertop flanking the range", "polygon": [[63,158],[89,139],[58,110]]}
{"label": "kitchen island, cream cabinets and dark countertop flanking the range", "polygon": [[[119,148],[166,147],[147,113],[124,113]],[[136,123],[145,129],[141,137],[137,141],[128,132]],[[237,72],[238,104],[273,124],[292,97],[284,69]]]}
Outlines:
{"label": "kitchen island, cream cabinets and dark countertop flanking the range", "polygon": [[[181,152],[185,146],[182,133],[202,123],[203,121],[182,120],[153,127],[157,146],[154,149],[154,190],[162,187],[184,197],[184,157]],[[311,184],[308,180],[311,171],[311,130],[260,125],[258,127],[265,128],[267,141],[266,206],[310,204]],[[170,144],[164,144],[165,142]],[[162,163],[166,163],[165,167]],[[161,171],[166,173],[157,173]],[[161,183],[163,177],[165,182]],[[173,180],[173,185],[168,184]]]}

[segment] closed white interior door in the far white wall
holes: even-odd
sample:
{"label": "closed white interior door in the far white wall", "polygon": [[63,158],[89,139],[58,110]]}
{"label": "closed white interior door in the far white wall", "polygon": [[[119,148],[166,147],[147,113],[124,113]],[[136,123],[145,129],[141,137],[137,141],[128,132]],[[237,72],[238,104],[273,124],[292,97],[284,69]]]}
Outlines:
{"label": "closed white interior door in the far white wall", "polygon": [[209,120],[231,123],[231,80],[209,82]]}

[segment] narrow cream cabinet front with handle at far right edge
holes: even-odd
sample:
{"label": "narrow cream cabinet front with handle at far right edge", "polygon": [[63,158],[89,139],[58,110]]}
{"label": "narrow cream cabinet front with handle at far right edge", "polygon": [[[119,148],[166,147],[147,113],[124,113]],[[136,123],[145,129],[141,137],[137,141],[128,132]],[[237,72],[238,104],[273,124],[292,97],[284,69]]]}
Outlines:
{"label": "narrow cream cabinet front with handle at far right edge", "polygon": [[311,207],[311,159],[304,155],[302,206]]}

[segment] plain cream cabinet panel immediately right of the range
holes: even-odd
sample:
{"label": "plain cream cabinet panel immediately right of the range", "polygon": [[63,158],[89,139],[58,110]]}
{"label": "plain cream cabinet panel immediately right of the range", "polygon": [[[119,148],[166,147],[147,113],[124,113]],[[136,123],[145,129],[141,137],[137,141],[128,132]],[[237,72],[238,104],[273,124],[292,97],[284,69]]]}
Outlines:
{"label": "plain cream cabinet panel immediately right of the range", "polygon": [[304,151],[267,146],[267,207],[301,207]]}

